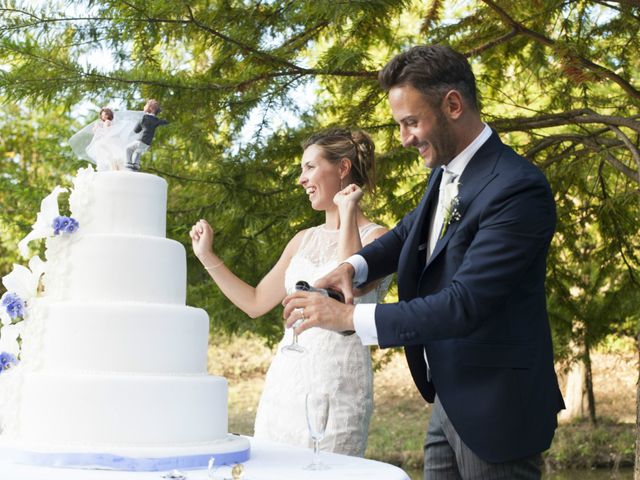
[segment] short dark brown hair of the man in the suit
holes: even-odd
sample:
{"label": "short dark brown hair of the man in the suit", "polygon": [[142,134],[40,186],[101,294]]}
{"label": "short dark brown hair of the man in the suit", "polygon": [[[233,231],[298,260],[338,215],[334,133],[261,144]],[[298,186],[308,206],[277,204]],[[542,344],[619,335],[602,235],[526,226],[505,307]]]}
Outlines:
{"label": "short dark brown hair of the man in the suit", "polygon": [[410,85],[438,106],[444,95],[457,90],[479,110],[476,79],[466,57],[445,45],[416,46],[393,57],[378,74],[381,87]]}

